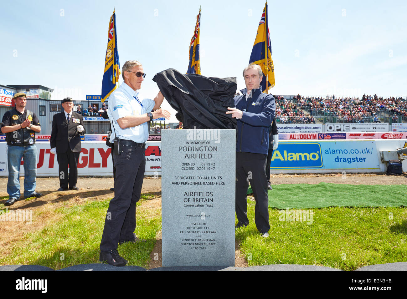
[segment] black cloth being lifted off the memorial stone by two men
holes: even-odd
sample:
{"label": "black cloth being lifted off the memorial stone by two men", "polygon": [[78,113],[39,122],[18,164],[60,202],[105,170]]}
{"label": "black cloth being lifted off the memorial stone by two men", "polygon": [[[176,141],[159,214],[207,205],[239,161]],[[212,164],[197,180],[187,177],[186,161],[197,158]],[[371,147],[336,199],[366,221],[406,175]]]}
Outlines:
{"label": "black cloth being lifted off the memorial stone by two men", "polygon": [[216,78],[182,74],[169,68],[155,74],[153,81],[178,113],[184,129],[236,129],[236,119],[226,114],[234,107],[236,77]]}

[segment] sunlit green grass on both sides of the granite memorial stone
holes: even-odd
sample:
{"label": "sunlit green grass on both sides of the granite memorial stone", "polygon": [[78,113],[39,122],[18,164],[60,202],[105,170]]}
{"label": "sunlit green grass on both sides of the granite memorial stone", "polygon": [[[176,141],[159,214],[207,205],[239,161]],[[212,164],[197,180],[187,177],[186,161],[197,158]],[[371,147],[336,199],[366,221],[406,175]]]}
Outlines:
{"label": "sunlit green grass on both sides of the granite memorial stone", "polygon": [[[272,191],[275,200],[278,199],[275,194],[289,198],[292,190],[287,191],[286,187],[289,186],[278,185],[276,190],[280,191]],[[306,198],[307,194],[302,196]],[[317,194],[313,196],[318,199]],[[143,207],[143,203],[153,197],[143,194],[136,209],[136,234],[147,242],[127,243],[118,248],[129,265],[148,267],[156,232],[161,229],[161,208]],[[25,234],[7,248],[0,248],[0,264],[37,264],[60,269],[98,263],[108,206],[109,200],[105,200],[56,209],[50,215],[55,221],[39,231]],[[313,208],[312,224],[284,221],[282,215],[287,210],[269,208],[271,229],[269,238],[265,239],[256,230],[254,206],[249,200],[249,226],[236,230],[241,252],[250,266],[309,264],[354,270],[370,264],[407,261],[405,207]],[[288,217],[287,220],[293,219]],[[308,220],[311,223],[311,219]],[[35,221],[34,217],[33,225]],[[6,250],[12,253],[5,255]]]}

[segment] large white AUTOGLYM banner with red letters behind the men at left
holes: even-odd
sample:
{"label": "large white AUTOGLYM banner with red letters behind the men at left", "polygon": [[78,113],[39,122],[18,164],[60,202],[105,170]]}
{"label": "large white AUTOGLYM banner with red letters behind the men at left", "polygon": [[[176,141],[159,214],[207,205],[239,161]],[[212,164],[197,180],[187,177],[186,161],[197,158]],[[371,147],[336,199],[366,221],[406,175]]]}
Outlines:
{"label": "large white AUTOGLYM banner with red letters behind the men at left", "polygon": [[[57,155],[50,152],[49,142],[36,143],[37,146],[37,176],[56,177],[58,175]],[[9,150],[5,142],[0,143],[0,151]],[[113,176],[111,148],[105,142],[82,142],[79,154],[78,175]],[[146,143],[146,170],[144,175],[161,175],[161,142]],[[21,162],[23,165],[23,162]],[[8,176],[7,155],[0,158],[0,174]],[[24,175],[24,168],[20,168],[20,175]]]}

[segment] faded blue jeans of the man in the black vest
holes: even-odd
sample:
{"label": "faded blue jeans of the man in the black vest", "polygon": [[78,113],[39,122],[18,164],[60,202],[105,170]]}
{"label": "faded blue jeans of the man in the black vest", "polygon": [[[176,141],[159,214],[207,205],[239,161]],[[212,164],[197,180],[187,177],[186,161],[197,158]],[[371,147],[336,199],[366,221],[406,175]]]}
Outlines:
{"label": "faded blue jeans of the man in the black vest", "polygon": [[24,158],[24,197],[35,193],[37,182],[37,146],[13,146],[7,148],[7,164],[9,167],[9,180],[7,193],[9,198],[20,198],[20,164]]}

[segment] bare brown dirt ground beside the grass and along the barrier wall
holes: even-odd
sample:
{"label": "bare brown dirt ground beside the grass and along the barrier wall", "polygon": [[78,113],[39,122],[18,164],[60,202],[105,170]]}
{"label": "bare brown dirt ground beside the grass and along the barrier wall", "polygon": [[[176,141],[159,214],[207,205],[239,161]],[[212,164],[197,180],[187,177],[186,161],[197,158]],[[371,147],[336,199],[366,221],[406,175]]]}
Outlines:
{"label": "bare brown dirt ground beside the grass and along the barrier wall", "polygon": [[[271,185],[277,186],[279,184],[294,184],[294,183],[308,183],[317,184],[320,182],[326,183],[339,183],[339,184],[367,184],[367,185],[383,185],[383,184],[405,184],[407,185],[407,175],[403,176],[387,176],[387,175],[375,175],[375,174],[301,174],[301,175],[284,175],[284,174],[272,174]],[[20,186],[24,186],[24,178],[20,178]],[[47,217],[53,210],[62,205],[77,205],[84,203],[85,201],[97,201],[110,199],[114,196],[114,192],[109,189],[114,186],[113,178],[107,177],[79,177],[78,184],[79,190],[67,190],[63,192],[56,191],[59,188],[58,178],[55,177],[37,177],[36,191],[42,193],[41,198],[24,200],[16,202],[9,207],[9,210],[17,209],[40,209],[40,219],[33,222],[33,225],[24,225],[19,222],[15,223],[0,223],[0,246],[7,245],[13,242],[13,240],[19,240],[29,231],[37,231],[42,229],[47,223]],[[161,207],[161,178],[146,177],[143,181],[142,193],[152,193],[158,195],[154,199],[144,201],[142,205],[152,208]],[[23,187],[21,190],[23,193]],[[7,194],[7,178],[0,178],[0,204],[4,204],[8,199]],[[4,208],[3,205],[0,208]],[[58,219],[54,218],[53,221]],[[153,253],[161,252],[161,231],[157,233],[157,243],[151,253],[151,262],[149,268],[161,267],[161,255],[159,254],[159,260],[154,260]],[[235,245],[235,265],[244,267],[247,266],[247,262],[243,258],[239,250],[239,244]]]}

